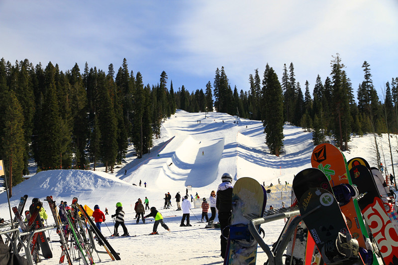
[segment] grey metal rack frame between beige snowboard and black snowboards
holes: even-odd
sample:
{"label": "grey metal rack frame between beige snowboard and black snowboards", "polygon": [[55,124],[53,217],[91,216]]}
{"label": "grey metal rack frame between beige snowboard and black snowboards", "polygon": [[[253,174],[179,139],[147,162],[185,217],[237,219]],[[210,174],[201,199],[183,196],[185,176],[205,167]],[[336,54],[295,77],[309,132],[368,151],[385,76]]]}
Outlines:
{"label": "grey metal rack frame between beige snowboard and black snowboards", "polygon": [[[279,242],[275,243],[275,247],[273,248],[273,250],[271,250],[270,247],[261,238],[256,226],[258,227],[261,224],[269,223],[283,218],[293,218],[294,216],[296,217],[291,221],[291,223],[287,227],[285,235],[282,237],[282,239]],[[268,256],[268,261],[265,264],[283,265],[283,260],[282,260],[283,254],[289,244],[291,236],[293,235],[296,227],[298,226],[298,223],[301,222],[301,220],[302,217],[300,216],[300,211],[298,210],[297,207],[281,208],[279,210],[270,210],[265,212],[263,217],[250,219],[248,224],[249,231]]]}

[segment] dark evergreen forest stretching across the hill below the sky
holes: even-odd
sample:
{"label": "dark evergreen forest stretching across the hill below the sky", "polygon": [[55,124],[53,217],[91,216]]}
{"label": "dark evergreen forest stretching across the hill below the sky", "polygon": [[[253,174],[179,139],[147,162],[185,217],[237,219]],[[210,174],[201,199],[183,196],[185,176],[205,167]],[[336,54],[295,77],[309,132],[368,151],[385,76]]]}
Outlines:
{"label": "dark evergreen forest stretching across the hill below the sky", "polygon": [[202,89],[189,92],[184,86],[175,90],[165,71],[158,84],[143,84],[126,59],[117,71],[112,64],[105,72],[86,63],[83,71],[75,64],[64,73],[51,62],[43,67],[2,58],[0,158],[8,184],[29,174],[30,159],[38,171],[88,169],[89,164],[95,170],[103,163],[106,172],[113,172],[129,143],[138,158],[150,152],[152,139],[161,137],[161,123],[176,109],[261,120],[265,143],[275,155],[283,147],[285,122],[312,131],[315,145],[334,139],[342,150],[353,134],[398,133],[398,77],[386,80],[379,97],[365,61],[363,82],[354,94],[339,54],[330,65],[329,76],[301,85],[293,63],[284,65],[280,78],[267,64],[263,73],[256,69],[248,75],[245,90],[232,89],[221,67],[212,81],[199,84]]}

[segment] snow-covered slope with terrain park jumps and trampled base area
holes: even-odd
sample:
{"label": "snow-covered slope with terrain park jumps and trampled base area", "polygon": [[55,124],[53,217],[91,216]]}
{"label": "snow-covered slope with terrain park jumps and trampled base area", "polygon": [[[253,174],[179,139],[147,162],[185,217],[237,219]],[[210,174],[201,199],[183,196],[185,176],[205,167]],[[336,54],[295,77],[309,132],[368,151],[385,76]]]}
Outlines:
{"label": "snow-covered slope with terrain park jumps and trampled base area", "polygon": [[[276,185],[278,179],[292,183],[293,177],[300,170],[310,167],[310,156],[314,148],[312,135],[302,128],[286,124],[284,126],[284,147],[280,157],[271,155],[265,146],[264,128],[260,121],[236,118],[225,113],[188,113],[178,110],[175,115],[162,124],[162,137],[155,139],[155,146],[150,154],[136,159],[132,146],[123,165],[119,165],[113,174],[104,173],[104,168],[96,171],[58,170],[46,171],[33,175],[12,188],[11,205],[16,205],[19,197],[28,194],[30,199],[39,197],[42,201],[52,195],[56,201],[70,202],[78,197],[81,204],[94,208],[99,204],[101,210],[108,208],[114,212],[115,203],[121,202],[126,212],[126,225],[134,238],[112,239],[111,244],[120,252],[122,260],[112,264],[143,264],[163,261],[164,264],[221,264],[219,257],[219,231],[200,229],[204,225],[196,223],[200,219],[201,209],[193,209],[191,222],[193,227],[179,227],[182,213],[172,209],[162,209],[164,194],[170,192],[174,198],[179,191],[185,194],[187,185],[192,185],[190,194],[198,192],[200,197],[208,197],[211,190],[216,190],[220,176],[228,172],[234,179],[253,177],[260,183]],[[383,147],[383,164],[391,171],[387,136],[378,137]],[[398,142],[391,138],[393,150]],[[363,157],[374,163],[373,136],[353,137],[350,152],[345,152],[348,159]],[[394,151],[394,159],[398,155]],[[126,171],[126,174],[124,174]],[[138,183],[142,182],[142,186]],[[144,182],[147,187],[144,187]],[[289,192],[288,192],[289,193]],[[150,206],[160,209],[172,233],[159,237],[145,237],[152,232],[152,224],[136,225],[133,206],[138,198],[147,196]],[[282,200],[274,201],[274,207],[280,207]],[[289,201],[288,201],[289,203]],[[287,204],[288,204],[287,203]],[[48,205],[44,202],[45,209]],[[0,194],[0,216],[9,219],[5,193]],[[217,220],[217,219],[216,219]],[[52,217],[48,219],[52,223]],[[105,236],[113,233],[113,223],[107,216],[102,224]],[[279,235],[284,223],[275,221],[268,224],[266,242],[271,244]],[[272,229],[271,229],[272,228]],[[164,232],[160,227],[159,232]],[[56,239],[55,232],[51,238]],[[266,261],[266,255],[259,250],[258,264]],[[59,247],[53,243],[54,259],[42,264],[55,264],[59,256]],[[59,252],[60,253],[60,252]],[[101,260],[109,260],[100,255]],[[96,258],[96,256],[95,256]],[[98,262],[98,259],[97,259]],[[99,264],[99,263],[98,263]]]}

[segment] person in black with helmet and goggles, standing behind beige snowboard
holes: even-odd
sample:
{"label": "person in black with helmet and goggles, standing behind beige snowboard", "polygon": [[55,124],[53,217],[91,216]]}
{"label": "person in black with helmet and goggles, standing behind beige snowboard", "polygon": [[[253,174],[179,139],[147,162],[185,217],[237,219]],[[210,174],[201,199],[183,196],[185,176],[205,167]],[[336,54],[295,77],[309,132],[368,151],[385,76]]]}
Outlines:
{"label": "person in black with helmet and goggles, standing behind beige snowboard", "polygon": [[221,236],[221,257],[225,258],[227,248],[227,238],[229,230],[225,227],[230,225],[231,211],[232,211],[232,176],[229,173],[224,173],[221,177],[222,183],[218,185],[215,207],[218,210],[218,221],[220,223]]}

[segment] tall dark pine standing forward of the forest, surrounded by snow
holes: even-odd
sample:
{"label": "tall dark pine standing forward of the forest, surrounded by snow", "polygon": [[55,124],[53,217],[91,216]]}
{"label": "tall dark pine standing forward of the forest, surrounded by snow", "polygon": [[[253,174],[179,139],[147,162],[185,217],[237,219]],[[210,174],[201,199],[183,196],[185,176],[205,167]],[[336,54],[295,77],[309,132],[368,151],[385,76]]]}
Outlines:
{"label": "tall dark pine standing forward of the forest, surrounded by snow", "polygon": [[271,154],[279,156],[283,146],[283,97],[282,88],[278,76],[272,68],[267,74],[265,88],[266,106],[272,111],[266,113],[264,133],[266,134],[266,144]]}

